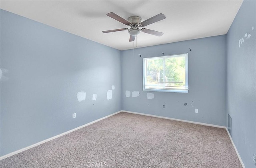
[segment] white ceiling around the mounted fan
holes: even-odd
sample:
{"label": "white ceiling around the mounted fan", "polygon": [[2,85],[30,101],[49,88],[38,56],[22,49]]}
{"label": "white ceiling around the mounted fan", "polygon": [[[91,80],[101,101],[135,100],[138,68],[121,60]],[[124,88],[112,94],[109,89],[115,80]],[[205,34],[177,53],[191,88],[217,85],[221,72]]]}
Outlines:
{"label": "white ceiling around the mounted fan", "polygon": [[[0,8],[76,34],[95,42],[127,50],[226,34],[242,0],[1,0]],[[141,33],[129,42],[128,30],[102,33],[104,30],[130,28],[106,16],[114,12],[126,19],[143,20],[163,13],[166,19],[144,28],[164,32],[161,37]]]}

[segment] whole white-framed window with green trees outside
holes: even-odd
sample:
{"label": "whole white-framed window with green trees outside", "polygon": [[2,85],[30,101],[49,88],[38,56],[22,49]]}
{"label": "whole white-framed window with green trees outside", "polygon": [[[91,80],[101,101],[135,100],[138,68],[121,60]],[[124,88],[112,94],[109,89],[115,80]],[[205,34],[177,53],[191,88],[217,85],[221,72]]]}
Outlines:
{"label": "whole white-framed window with green trees outside", "polygon": [[188,53],[143,58],[143,90],[188,93]]}

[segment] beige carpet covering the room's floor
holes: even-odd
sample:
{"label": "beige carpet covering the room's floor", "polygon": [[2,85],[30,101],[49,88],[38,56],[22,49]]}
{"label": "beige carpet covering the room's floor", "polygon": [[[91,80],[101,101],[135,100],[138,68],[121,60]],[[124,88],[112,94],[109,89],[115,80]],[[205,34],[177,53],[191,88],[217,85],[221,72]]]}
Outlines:
{"label": "beige carpet covering the room's floor", "polygon": [[241,168],[225,129],[119,113],[0,161],[1,168]]}

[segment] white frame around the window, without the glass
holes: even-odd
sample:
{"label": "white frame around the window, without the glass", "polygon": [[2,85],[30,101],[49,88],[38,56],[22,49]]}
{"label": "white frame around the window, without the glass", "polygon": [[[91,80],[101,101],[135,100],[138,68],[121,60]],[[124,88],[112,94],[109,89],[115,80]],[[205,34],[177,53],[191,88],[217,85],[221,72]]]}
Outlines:
{"label": "white frame around the window, without the glass", "polygon": [[[145,83],[146,83],[146,60],[147,59],[160,59],[160,58],[170,58],[170,57],[179,57],[179,56],[185,56],[185,67],[186,67],[186,86],[187,89],[181,89],[181,90],[177,90],[177,89],[156,89],[156,88],[152,88],[152,89],[146,89]],[[172,55],[165,55],[165,56],[153,56],[153,57],[145,57],[143,58],[143,74],[142,74],[142,79],[143,79],[143,91],[150,91],[150,92],[174,92],[174,93],[188,93],[188,53],[183,53],[183,54],[172,54]]]}

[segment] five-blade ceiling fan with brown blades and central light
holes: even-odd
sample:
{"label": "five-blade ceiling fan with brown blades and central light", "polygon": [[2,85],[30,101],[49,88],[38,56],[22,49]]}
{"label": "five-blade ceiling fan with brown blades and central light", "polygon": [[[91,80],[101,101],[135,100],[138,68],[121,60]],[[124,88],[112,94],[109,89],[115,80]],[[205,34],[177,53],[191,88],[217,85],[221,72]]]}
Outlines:
{"label": "five-blade ceiling fan with brown blades and central light", "polygon": [[141,18],[139,16],[130,16],[127,19],[128,21],[125,20],[124,18],[121,18],[120,16],[118,16],[117,14],[115,14],[113,12],[108,13],[107,16],[109,16],[110,18],[113,18],[127,26],[130,26],[131,28],[120,28],[120,29],[114,29],[114,30],[106,30],[106,31],[102,31],[102,32],[110,33],[110,32],[118,32],[118,31],[122,31],[122,30],[128,30],[128,32],[130,34],[129,42],[133,42],[135,40],[135,37],[138,34],[140,34],[141,32],[152,34],[155,36],[162,36],[164,34],[162,32],[150,30],[147,28],[139,29],[139,27],[148,26],[149,24],[152,24],[152,23],[155,23],[155,22],[165,19],[166,17],[162,13],[157,14],[156,16],[153,16],[152,18],[149,18],[147,20],[144,20],[143,22],[141,22]]}

